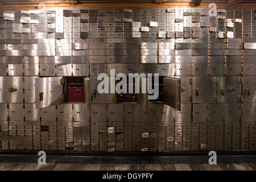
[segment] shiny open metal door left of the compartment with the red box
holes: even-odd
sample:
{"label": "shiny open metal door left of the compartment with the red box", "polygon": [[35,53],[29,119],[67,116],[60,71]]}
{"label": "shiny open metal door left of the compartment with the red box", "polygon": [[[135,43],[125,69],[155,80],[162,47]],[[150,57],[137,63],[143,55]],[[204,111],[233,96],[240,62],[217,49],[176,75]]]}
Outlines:
{"label": "shiny open metal door left of the compartment with the red box", "polygon": [[63,77],[35,78],[36,109],[63,104]]}

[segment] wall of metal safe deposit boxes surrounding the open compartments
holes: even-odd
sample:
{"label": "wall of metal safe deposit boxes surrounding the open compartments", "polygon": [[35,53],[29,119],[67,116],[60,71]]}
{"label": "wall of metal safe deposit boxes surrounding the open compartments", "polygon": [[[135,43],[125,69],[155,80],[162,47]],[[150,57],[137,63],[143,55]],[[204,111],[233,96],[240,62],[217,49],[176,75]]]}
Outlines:
{"label": "wall of metal safe deposit boxes surrounding the open compartments", "polygon": [[[250,9],[1,11],[2,150],[255,150],[255,17]],[[89,76],[95,86],[110,68],[180,77],[181,111],[112,96],[90,111],[35,109],[34,78]]]}

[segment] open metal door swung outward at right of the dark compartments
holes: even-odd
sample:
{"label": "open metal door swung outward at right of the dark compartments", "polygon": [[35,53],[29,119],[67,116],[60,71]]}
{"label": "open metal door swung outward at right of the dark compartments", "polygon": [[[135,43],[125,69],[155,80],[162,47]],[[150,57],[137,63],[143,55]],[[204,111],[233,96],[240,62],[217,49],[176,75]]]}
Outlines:
{"label": "open metal door swung outward at right of the dark compartments", "polygon": [[176,110],[180,110],[180,81],[180,78],[163,78],[163,103]]}

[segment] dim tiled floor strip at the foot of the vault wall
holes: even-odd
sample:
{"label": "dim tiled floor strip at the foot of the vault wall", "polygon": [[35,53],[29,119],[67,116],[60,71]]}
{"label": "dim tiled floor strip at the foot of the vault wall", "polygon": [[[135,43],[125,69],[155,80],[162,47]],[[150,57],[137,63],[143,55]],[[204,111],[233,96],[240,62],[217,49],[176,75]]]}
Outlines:
{"label": "dim tiled floor strip at the foot of the vault wall", "polygon": [[0,171],[256,171],[256,163],[72,164],[0,163]]}

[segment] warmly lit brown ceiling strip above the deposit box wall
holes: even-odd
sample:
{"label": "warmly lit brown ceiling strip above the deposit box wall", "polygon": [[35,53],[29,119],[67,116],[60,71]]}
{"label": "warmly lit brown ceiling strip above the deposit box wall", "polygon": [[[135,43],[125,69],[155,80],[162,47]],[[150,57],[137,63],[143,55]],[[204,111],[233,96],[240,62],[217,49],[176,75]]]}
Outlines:
{"label": "warmly lit brown ceiling strip above the deposit box wall", "polygon": [[[72,1],[72,2],[70,2]],[[157,3],[155,1],[162,1]],[[216,3],[217,7],[256,8],[253,0],[0,0],[0,9],[31,9],[39,3],[47,8],[76,7],[208,7]]]}

